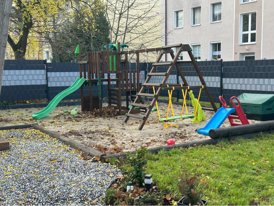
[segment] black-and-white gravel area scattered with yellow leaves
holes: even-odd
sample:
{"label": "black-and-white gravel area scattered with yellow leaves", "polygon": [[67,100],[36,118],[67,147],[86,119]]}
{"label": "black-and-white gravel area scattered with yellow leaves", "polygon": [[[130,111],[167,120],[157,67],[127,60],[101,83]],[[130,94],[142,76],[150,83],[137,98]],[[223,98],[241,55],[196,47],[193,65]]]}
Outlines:
{"label": "black-and-white gravel area scattered with yellow leaves", "polygon": [[0,205],[104,205],[119,169],[85,160],[81,152],[34,129],[0,130]]}

